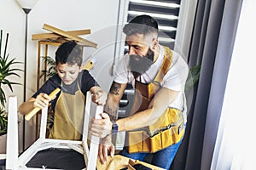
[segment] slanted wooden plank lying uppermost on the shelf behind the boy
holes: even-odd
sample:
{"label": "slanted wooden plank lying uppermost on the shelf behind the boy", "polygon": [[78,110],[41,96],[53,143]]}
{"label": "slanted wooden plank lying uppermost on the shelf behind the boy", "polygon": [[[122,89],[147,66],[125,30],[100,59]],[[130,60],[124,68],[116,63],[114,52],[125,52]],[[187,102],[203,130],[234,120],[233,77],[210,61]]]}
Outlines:
{"label": "slanted wooden plank lying uppermost on the shelf behind the boy", "polygon": [[45,30],[55,32],[56,34],[59,34],[63,37],[71,38],[75,41],[78,41],[81,44],[84,43],[84,45],[87,45],[89,47],[97,48],[97,44],[95,42],[90,42],[88,40],[85,40],[84,38],[81,38],[81,37],[78,37],[78,36],[73,36],[70,33],[68,33],[67,31],[62,31],[61,29],[55,28],[54,26],[49,26],[47,24],[44,24],[43,28]]}

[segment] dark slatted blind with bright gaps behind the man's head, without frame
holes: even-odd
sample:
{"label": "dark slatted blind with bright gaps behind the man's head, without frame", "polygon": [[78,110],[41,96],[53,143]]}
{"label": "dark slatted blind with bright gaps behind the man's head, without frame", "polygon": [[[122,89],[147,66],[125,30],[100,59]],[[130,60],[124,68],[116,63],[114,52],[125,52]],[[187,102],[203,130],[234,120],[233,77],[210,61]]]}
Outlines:
{"label": "dark slatted blind with bright gaps behind the man's head, without frame", "polygon": [[173,48],[180,2],[181,0],[129,0],[126,5],[127,14],[124,21],[129,22],[141,14],[152,16],[159,24],[160,44]]}

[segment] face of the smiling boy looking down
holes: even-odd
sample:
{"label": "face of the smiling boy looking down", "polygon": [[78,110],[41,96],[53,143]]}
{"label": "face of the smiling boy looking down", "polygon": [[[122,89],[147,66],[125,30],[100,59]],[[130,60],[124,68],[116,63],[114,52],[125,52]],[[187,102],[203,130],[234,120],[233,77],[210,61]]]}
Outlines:
{"label": "face of the smiling boy looking down", "polygon": [[56,70],[62,82],[67,85],[72,84],[72,82],[74,82],[79,76],[79,72],[82,71],[81,67],[79,67],[78,64],[68,65],[67,63],[59,63],[58,65],[56,65]]}

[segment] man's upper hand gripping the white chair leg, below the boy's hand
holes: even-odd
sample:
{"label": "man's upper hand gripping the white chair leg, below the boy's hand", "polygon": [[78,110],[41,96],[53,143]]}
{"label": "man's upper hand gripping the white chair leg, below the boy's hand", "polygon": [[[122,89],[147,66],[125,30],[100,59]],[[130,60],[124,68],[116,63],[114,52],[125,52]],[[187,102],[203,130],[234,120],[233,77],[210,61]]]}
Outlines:
{"label": "man's upper hand gripping the white chair leg, below the boy's hand", "polygon": [[107,113],[101,113],[102,119],[93,117],[90,122],[90,134],[105,138],[112,132],[112,122]]}

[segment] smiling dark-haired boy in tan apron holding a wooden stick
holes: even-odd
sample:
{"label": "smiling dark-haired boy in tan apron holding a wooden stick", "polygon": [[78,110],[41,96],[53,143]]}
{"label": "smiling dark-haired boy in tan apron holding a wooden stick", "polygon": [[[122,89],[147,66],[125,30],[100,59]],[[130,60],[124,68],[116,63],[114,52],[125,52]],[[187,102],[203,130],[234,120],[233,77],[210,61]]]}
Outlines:
{"label": "smiling dark-haired boy in tan apron holding a wooden stick", "polygon": [[[54,124],[49,130],[49,138],[80,140],[84,122],[84,104],[87,91],[96,105],[105,105],[107,94],[99,87],[90,73],[82,68],[83,48],[76,42],[64,42],[55,52],[57,74],[50,77],[31,99],[19,106],[20,114],[25,115],[33,108],[44,108],[51,104],[54,111]],[[55,99],[49,94],[61,88]]]}

